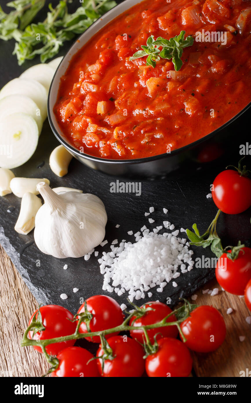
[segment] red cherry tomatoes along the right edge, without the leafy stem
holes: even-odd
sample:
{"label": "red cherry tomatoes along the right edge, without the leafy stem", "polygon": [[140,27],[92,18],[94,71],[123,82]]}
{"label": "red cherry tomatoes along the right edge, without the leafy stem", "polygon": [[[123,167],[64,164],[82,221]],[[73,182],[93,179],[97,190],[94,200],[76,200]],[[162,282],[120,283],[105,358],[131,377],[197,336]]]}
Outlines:
{"label": "red cherry tomatoes along the right edge, without the leafy stem", "polygon": [[[240,214],[251,206],[251,179],[247,172],[245,166],[241,168],[240,161],[236,170],[224,170],[215,178],[212,198],[222,212]],[[217,281],[225,291],[245,295],[247,307],[251,310],[251,248],[241,248],[233,260],[227,257],[229,252],[223,253],[218,260]]]}

